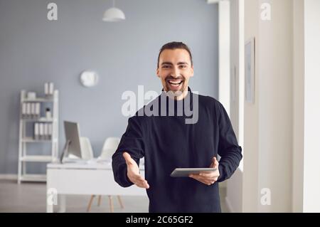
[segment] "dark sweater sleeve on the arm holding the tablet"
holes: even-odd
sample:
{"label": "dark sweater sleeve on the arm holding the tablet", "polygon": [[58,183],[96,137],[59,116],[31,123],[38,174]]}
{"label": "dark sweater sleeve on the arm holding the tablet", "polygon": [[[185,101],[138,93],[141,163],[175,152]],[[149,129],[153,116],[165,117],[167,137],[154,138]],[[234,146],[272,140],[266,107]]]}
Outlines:
{"label": "dark sweater sleeve on the arm holding the tablet", "polygon": [[220,176],[218,177],[218,182],[221,182],[229,179],[238,168],[242,159],[242,148],[238,145],[225,108],[220,102],[218,102],[216,107],[219,125],[218,154],[221,157],[219,160]]}

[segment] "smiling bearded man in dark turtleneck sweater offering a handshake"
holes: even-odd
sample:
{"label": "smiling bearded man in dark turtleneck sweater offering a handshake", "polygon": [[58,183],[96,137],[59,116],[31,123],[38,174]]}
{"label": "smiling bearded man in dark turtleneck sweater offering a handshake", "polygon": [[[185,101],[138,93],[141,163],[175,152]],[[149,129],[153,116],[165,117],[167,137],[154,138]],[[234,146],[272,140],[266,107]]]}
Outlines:
{"label": "smiling bearded man in dark turtleneck sweater offering a handshake", "polygon": [[[129,118],[112,156],[114,180],[145,188],[150,212],[220,212],[218,182],[230,178],[242,159],[228,114],[213,97],[188,88],[193,62],[184,43],[161,48],[156,74],[162,93]],[[138,167],[142,157],[145,179]],[[176,168],[193,167],[218,170],[170,176]]]}

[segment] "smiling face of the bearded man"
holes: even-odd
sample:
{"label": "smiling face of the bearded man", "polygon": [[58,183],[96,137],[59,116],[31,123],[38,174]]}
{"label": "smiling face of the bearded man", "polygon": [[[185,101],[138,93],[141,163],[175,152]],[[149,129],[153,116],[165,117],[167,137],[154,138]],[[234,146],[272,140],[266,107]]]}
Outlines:
{"label": "smiling face of the bearded man", "polygon": [[184,49],[162,51],[156,75],[161,79],[166,92],[187,91],[189,78],[193,76],[193,66],[188,51]]}

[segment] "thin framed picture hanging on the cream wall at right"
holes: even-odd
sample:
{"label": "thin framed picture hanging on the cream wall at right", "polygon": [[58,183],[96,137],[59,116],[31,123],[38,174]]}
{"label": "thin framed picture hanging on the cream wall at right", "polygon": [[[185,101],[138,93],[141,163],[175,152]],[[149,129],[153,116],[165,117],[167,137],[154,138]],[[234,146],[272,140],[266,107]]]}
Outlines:
{"label": "thin framed picture hanging on the cream wall at right", "polygon": [[255,102],[255,37],[245,42],[245,101]]}

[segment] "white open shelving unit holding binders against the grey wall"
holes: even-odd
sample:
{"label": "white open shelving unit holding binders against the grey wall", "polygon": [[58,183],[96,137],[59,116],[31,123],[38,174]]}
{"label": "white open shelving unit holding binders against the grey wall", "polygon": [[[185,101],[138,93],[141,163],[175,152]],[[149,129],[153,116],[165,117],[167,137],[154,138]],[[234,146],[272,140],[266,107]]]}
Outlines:
{"label": "white open shelving unit holding binders against the grey wall", "polygon": [[[27,174],[26,173],[26,164],[27,162],[56,162],[58,160],[58,90],[54,90],[53,95],[48,97],[36,97],[33,99],[28,99],[27,93],[25,90],[21,90],[20,97],[20,123],[19,123],[19,144],[18,144],[18,184],[21,181],[46,181],[46,174]],[[46,118],[41,116],[41,112],[35,117],[25,117],[23,115],[23,103],[39,103],[40,109],[43,108],[43,105],[49,102],[52,103],[51,117]],[[30,136],[27,135],[26,129],[27,125],[31,125],[34,129],[34,124],[52,124],[50,126],[50,137],[35,137],[35,132]],[[48,126],[48,125],[47,125]],[[43,154],[41,151],[35,154],[28,154],[27,144],[28,143],[50,143],[50,154]],[[33,151],[35,153],[35,151]]]}

